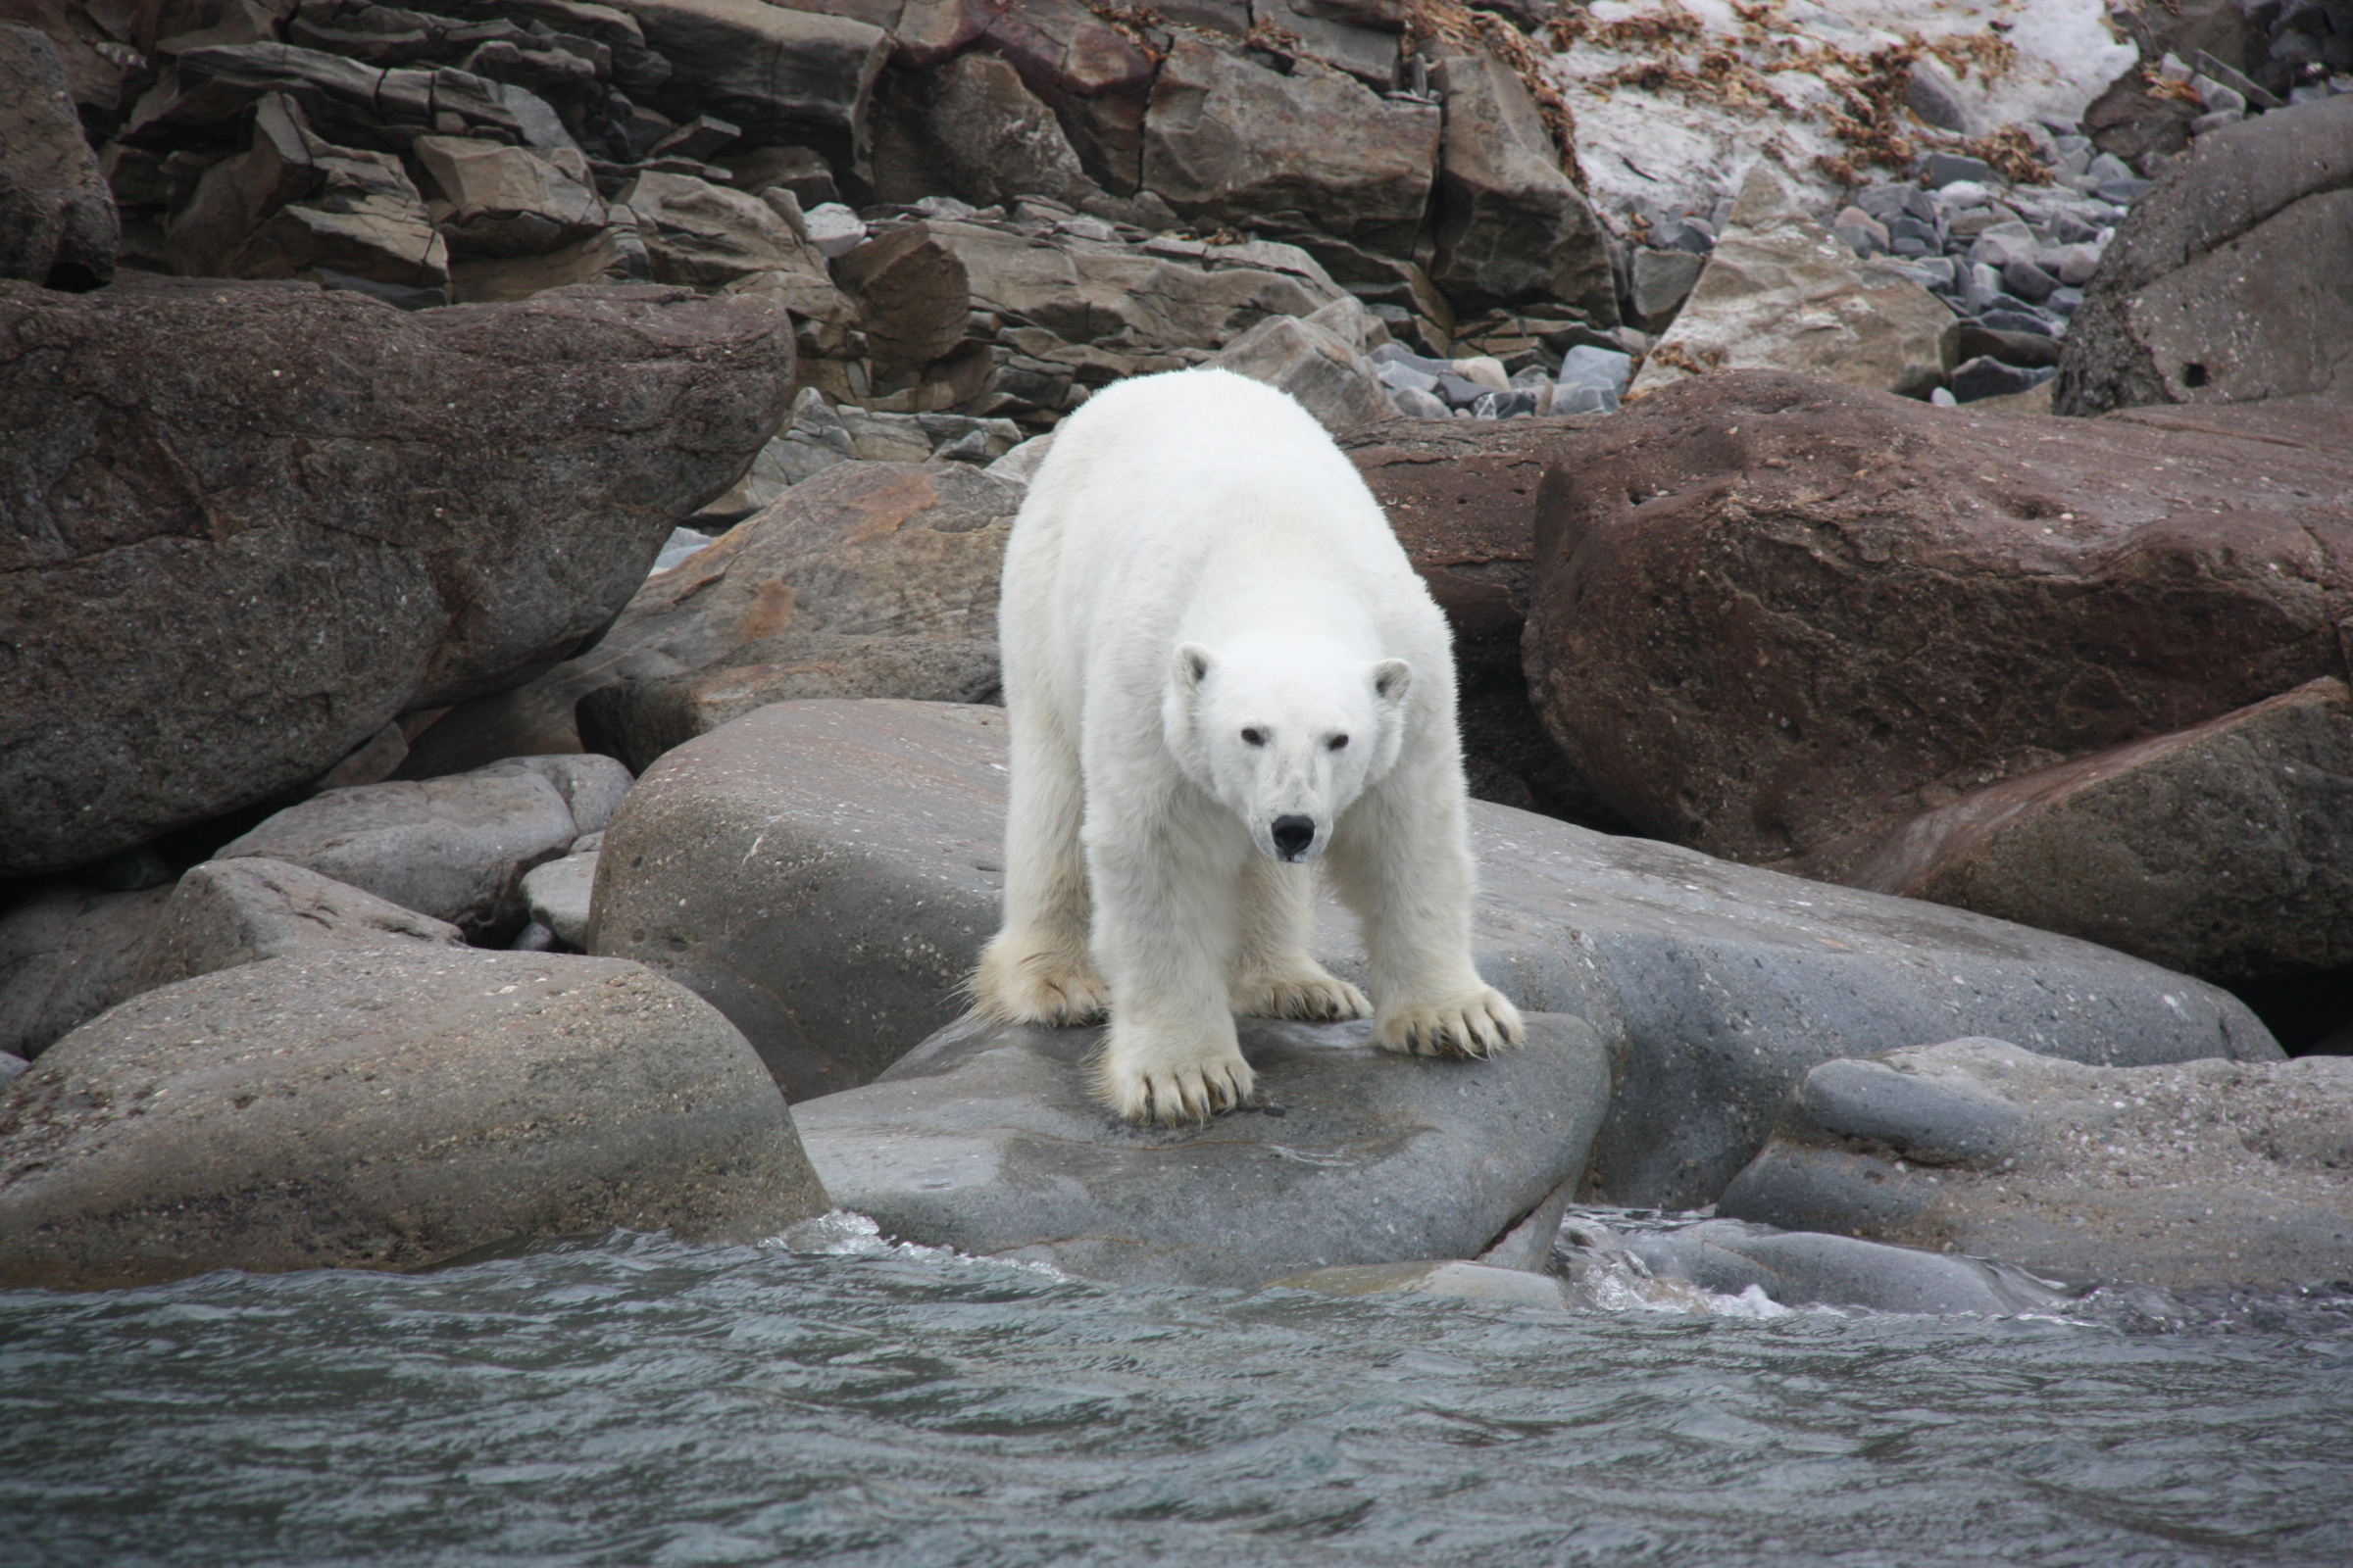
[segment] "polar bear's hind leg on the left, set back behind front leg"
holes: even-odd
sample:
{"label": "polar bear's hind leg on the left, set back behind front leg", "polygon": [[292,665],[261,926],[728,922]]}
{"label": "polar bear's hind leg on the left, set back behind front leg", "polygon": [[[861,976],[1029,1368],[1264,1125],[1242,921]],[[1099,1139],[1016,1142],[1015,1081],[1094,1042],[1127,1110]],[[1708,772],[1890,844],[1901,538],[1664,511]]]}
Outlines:
{"label": "polar bear's hind leg on the left, set back behind front leg", "polygon": [[1045,715],[1021,717],[1005,811],[1005,926],[981,950],[972,1004],[995,1023],[1096,1023],[1111,992],[1087,950],[1078,750]]}

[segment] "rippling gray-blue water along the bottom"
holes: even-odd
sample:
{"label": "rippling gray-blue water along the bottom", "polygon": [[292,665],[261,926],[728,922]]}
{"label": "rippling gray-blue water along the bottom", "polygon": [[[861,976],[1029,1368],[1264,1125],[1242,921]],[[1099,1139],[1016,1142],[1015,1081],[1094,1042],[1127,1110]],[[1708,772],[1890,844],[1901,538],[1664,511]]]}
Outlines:
{"label": "rippling gray-blue water along the bottom", "polygon": [[2344,1298],[1572,1314],[798,1244],[0,1293],[0,1563],[2353,1561]]}

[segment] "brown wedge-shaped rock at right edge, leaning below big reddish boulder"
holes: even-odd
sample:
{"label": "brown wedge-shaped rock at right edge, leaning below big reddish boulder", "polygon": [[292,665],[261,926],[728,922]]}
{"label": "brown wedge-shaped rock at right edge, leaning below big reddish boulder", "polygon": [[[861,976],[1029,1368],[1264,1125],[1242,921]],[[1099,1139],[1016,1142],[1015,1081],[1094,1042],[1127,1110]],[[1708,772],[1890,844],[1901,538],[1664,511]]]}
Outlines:
{"label": "brown wedge-shaped rock at right edge, leaning below big reddish boulder", "polygon": [[2224,985],[2353,966],[2353,691],[2315,679],[2007,778],[1798,870]]}

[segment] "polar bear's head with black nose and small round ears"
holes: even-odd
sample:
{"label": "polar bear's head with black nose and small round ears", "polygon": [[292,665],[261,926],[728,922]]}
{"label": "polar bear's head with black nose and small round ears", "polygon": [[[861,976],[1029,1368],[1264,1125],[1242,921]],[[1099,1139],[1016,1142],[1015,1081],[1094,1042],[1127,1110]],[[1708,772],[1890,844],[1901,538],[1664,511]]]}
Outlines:
{"label": "polar bear's head with black nose and small round ears", "polygon": [[1162,729],[1186,778],[1233,811],[1259,853],[1313,860],[1339,813],[1405,745],[1402,658],[1365,661],[1322,639],[1176,646]]}

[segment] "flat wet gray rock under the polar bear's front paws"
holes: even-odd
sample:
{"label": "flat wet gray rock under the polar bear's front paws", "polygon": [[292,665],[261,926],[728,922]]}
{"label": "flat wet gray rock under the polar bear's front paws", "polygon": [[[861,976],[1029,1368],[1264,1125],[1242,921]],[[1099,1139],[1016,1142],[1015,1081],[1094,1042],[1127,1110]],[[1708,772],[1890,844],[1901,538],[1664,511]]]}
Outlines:
{"label": "flat wet gray rock under the polar bear's front paws", "polygon": [[1120,1284],[1471,1258],[1584,1166],[1609,1063],[1581,1020],[1534,1016],[1492,1060],[1374,1051],[1367,1027],[1242,1020],[1257,1098],[1195,1128],[1092,1098],[1101,1030],[976,1023],[793,1119],[833,1201],[887,1234]]}

